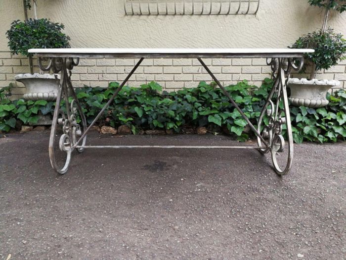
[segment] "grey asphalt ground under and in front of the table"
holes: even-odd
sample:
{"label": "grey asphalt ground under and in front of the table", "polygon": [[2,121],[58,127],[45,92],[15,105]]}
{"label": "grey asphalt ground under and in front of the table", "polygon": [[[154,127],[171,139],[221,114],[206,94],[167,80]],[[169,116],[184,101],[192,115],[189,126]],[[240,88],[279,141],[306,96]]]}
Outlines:
{"label": "grey asphalt ground under and in front of the table", "polygon": [[[346,258],[346,143],[295,145],[284,177],[256,150],[196,149],[86,150],[58,175],[48,139],[0,138],[0,260]],[[239,145],[213,135],[88,140]]]}

